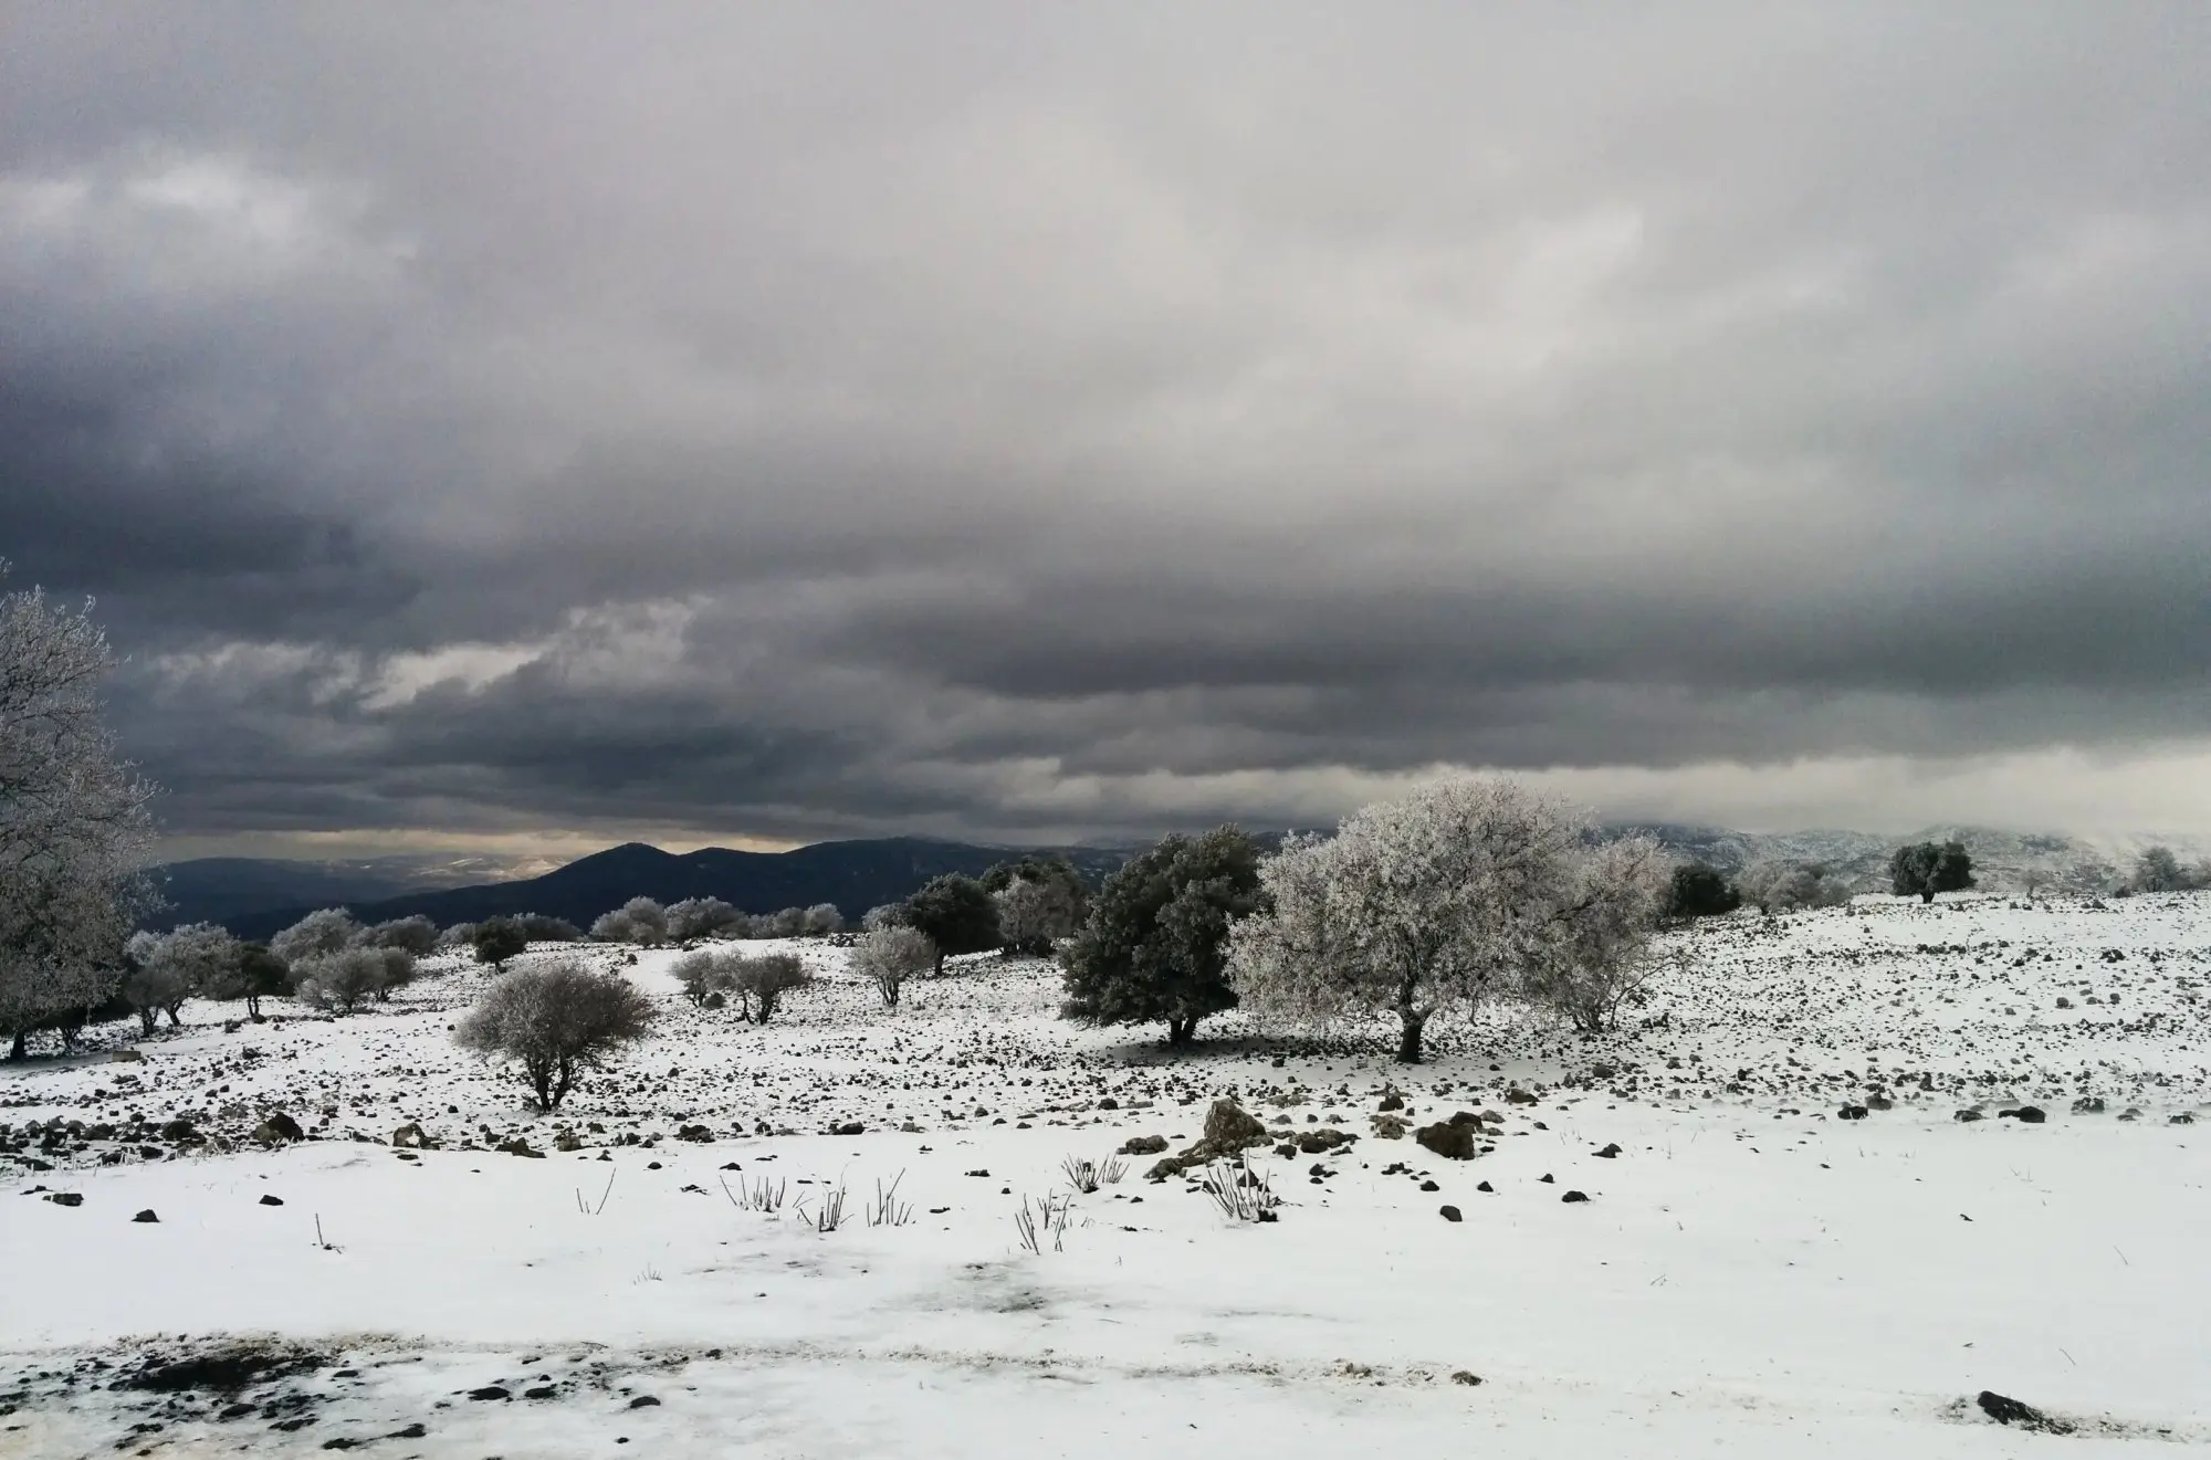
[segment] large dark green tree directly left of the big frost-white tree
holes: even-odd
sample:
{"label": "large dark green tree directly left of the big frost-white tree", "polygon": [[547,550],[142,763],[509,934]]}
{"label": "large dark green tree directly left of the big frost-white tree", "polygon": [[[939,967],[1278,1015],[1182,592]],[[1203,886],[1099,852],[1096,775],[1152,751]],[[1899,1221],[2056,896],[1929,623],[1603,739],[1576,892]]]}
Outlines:
{"label": "large dark green tree directly left of the big frost-white tree", "polygon": [[1083,1024],[1165,1020],[1185,1046],[1198,1020],[1236,1007],[1229,922],[1260,907],[1258,845],[1227,825],[1170,836],[1106,878],[1090,920],[1061,953],[1066,1018]]}

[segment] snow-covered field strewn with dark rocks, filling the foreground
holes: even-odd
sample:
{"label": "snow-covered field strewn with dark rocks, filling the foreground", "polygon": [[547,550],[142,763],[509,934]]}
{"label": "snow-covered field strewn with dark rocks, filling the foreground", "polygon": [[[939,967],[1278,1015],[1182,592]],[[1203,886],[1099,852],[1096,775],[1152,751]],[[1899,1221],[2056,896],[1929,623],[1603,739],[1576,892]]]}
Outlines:
{"label": "snow-covered field strewn with dark rocks, filling the foreground", "polygon": [[[4,1068],[0,1453],[2211,1445],[2211,896],[1736,916],[1614,1035],[1439,1020],[1411,1071],[1380,1024],[1072,1029],[1037,962],[891,1015],[794,947],[822,980],[767,1029],[641,951],[659,1031],[553,1119],[451,1044],[486,976],[449,960],[349,1020],[188,1004],[144,1062],[111,1026]],[[1393,1091],[1495,1110],[1486,1155],[1386,1137]],[[1072,1192],[1063,1159],[1181,1150],[1225,1095],[1358,1139],[1251,1150],[1271,1223],[1150,1155]],[[252,1141],[274,1110],[312,1139]],[[871,1223],[893,1183],[911,1219]],[[1035,1199],[1068,1201],[1041,1252]]]}

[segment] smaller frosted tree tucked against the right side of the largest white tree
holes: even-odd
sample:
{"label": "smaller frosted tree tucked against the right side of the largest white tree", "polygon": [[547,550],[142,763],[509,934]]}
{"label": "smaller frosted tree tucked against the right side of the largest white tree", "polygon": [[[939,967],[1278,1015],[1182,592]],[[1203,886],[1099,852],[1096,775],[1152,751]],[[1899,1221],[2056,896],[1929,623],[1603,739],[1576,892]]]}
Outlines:
{"label": "smaller frosted tree tucked against the right side of the largest white tree", "polygon": [[1601,1033],[1649,978],[1674,867],[1658,843],[1623,836],[1574,847],[1565,876],[1541,909],[1550,929],[1532,940],[1521,980],[1528,998],[1583,1033]]}

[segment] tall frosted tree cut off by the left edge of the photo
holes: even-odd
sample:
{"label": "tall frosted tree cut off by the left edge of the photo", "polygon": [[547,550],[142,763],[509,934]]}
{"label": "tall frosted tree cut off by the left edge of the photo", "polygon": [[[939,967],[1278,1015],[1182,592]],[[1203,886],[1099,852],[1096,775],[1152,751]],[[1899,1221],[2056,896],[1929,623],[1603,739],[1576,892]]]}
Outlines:
{"label": "tall frosted tree cut off by the left edge of the photo", "polygon": [[124,940],[155,905],[139,872],[155,788],[99,719],[113,666],[88,604],[0,595],[0,1033],[13,1060],[31,1031],[115,991]]}

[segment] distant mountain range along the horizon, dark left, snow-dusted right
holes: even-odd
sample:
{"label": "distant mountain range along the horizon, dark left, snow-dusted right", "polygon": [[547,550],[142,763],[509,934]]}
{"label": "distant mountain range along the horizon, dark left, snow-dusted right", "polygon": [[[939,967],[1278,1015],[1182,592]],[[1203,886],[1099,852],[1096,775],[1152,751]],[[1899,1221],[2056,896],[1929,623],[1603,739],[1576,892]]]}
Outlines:
{"label": "distant mountain range along the horizon, dark left, snow-dusted right", "polygon": [[[2103,889],[2114,885],[2151,845],[2169,845],[2182,861],[2211,854],[2202,838],[2081,838],[2019,834],[1988,827],[1928,827],[1913,836],[1864,832],[1731,832],[1725,827],[1623,823],[1614,832],[1643,832],[1683,858],[1742,872],[1758,861],[1809,861],[1833,867],[1864,891],[1886,887],[1888,854],[1910,841],[1963,841],[1983,887],[2021,887],[2027,869],[2052,885]],[[1260,834],[1276,843],[1278,834]],[[1128,861],[1132,847],[991,847],[922,836],[825,841],[794,852],[661,852],[643,843],[608,847],[542,876],[502,876],[495,858],[387,856],[358,863],[292,863],[201,858],[168,863],[170,907],[159,927],[221,922],[241,938],[265,938],[316,907],[352,907],[365,922],[425,914],[438,925],[478,922],[500,914],[548,914],[590,927],[593,918],[635,896],[679,903],[721,898],[743,911],[836,903],[847,918],[895,903],[946,872],[975,876],[1024,852],[1066,856],[1094,885]]]}

